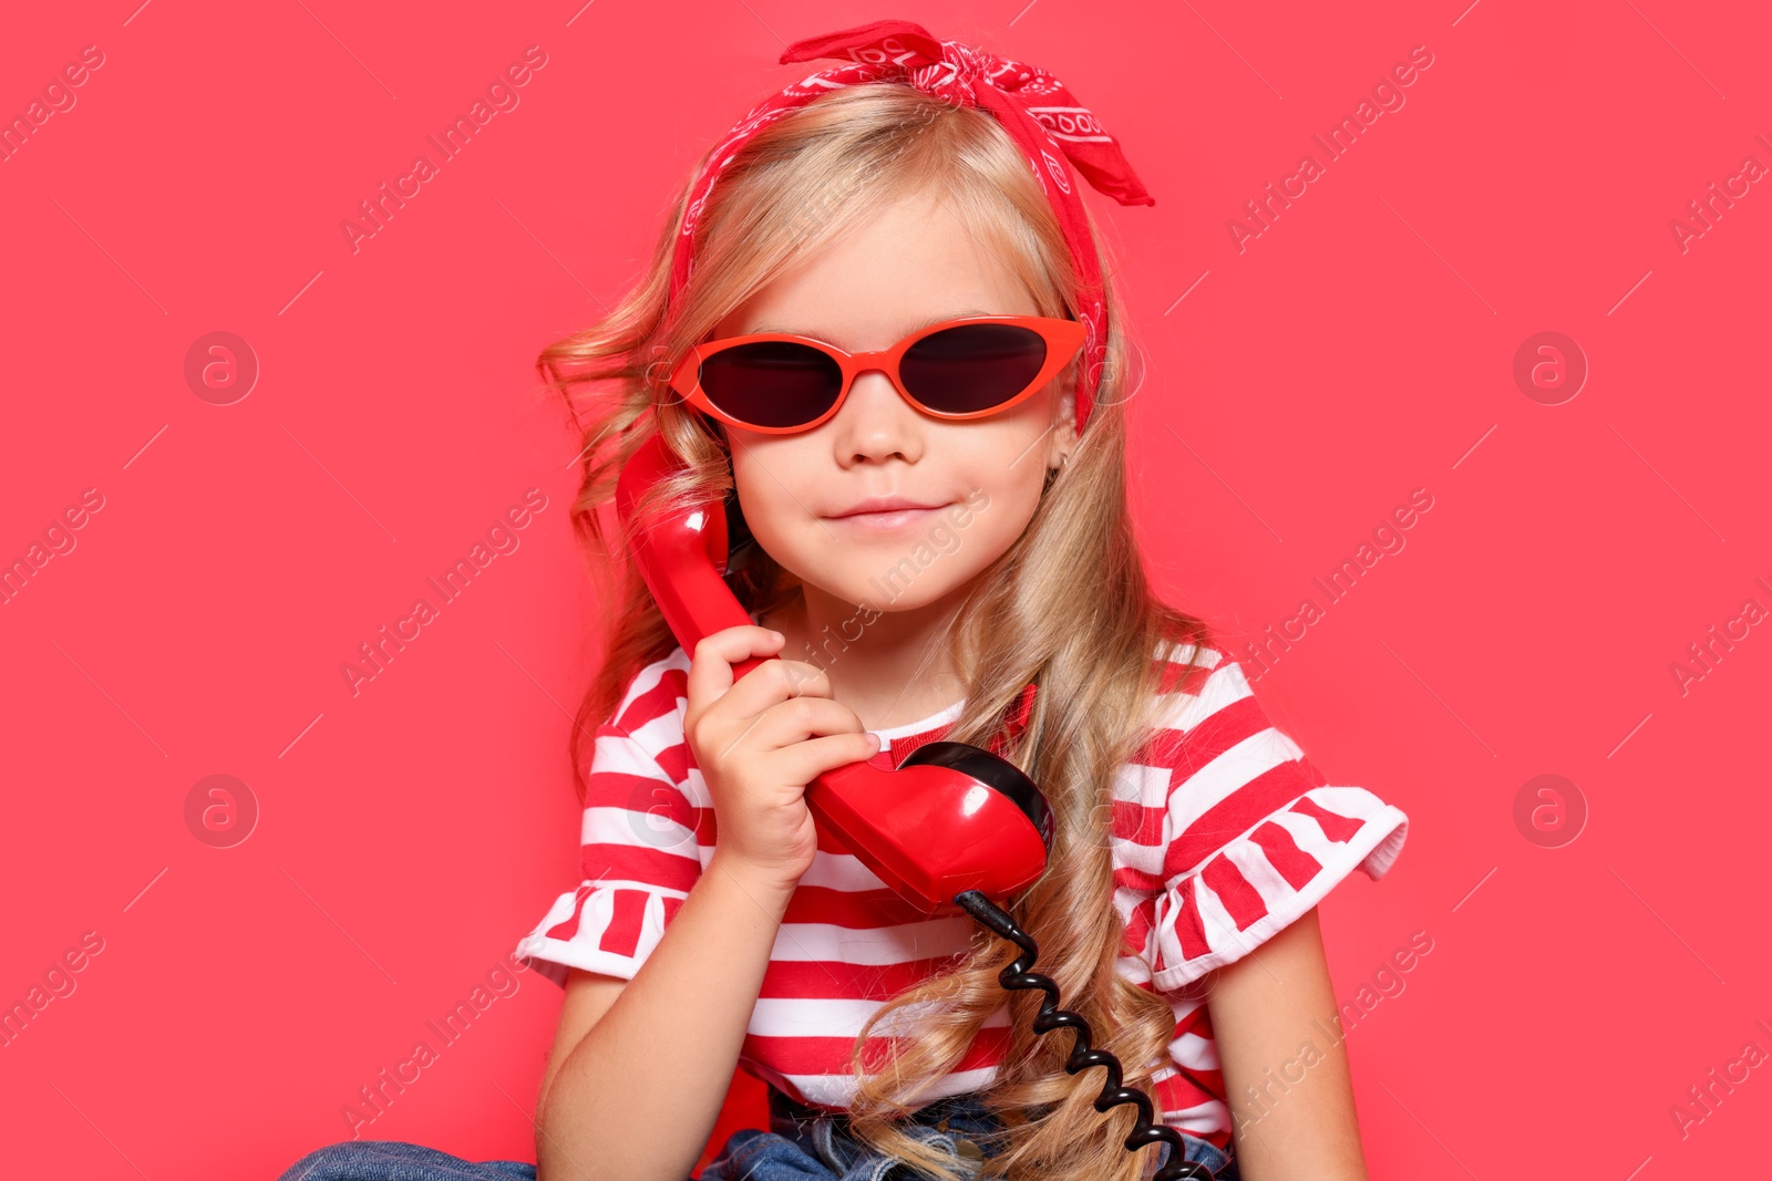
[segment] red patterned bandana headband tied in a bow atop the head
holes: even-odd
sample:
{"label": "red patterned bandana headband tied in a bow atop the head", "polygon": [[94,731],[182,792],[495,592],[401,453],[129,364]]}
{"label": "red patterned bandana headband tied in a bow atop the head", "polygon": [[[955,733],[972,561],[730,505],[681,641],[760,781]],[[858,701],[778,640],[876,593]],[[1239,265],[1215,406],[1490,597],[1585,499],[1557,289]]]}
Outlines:
{"label": "red patterned bandana headband tied in a bow atop the head", "polygon": [[874,21],[858,28],[806,37],[781,53],[781,64],[820,57],[847,57],[852,64],[808,74],[741,119],[709,156],[709,165],[689,189],[677,250],[672,259],[670,301],[677,303],[689,282],[689,248],[709,189],[744,142],[776,119],[840,87],[867,81],[902,81],[955,106],[983,106],[996,115],[1028,156],[1033,177],[1053,202],[1065,232],[1081,287],[1077,319],[1086,329],[1083,381],[1077,386],[1077,434],[1088,421],[1100,372],[1108,358],[1108,312],[1102,276],[1083,216],[1081,186],[1070,166],[1099,191],[1122,205],[1155,205],[1120,145],[1056,78],[1038,66],[1012,62],[959,41],[936,41],[911,21]]}

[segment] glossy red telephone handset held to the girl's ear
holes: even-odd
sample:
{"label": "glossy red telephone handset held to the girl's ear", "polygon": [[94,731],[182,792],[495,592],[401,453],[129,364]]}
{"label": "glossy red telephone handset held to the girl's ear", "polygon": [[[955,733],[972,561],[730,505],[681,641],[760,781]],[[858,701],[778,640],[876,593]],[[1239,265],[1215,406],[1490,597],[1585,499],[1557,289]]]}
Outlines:
{"label": "glossy red telephone handset held to the girl's ear", "polygon": [[[684,650],[751,623],[727,570],[727,513],[718,503],[636,522],[641,490],[682,464],[652,436],[617,480],[615,512],[629,551]],[[734,680],[762,664],[734,666]],[[897,770],[849,763],[806,784],[806,807],[881,882],[925,915],[957,910],[978,891],[992,901],[1045,871],[1053,818],[1045,797],[1012,763],[960,742],[929,742]]]}

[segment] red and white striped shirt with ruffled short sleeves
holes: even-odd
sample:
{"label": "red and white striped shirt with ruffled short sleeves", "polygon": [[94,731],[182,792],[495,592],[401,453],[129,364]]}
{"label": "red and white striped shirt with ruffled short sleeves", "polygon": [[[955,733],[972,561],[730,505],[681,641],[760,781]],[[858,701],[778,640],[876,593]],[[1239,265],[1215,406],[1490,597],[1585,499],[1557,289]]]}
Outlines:
{"label": "red and white striped shirt with ruffled short sleeves", "polygon": [[[1168,671],[1180,673],[1191,655],[1171,652]],[[1409,818],[1364,788],[1331,786],[1269,722],[1242,668],[1210,648],[1201,655],[1113,781],[1113,905],[1127,924],[1116,970],[1175,1011],[1155,1101],[1170,1126],[1226,1147],[1219,1055],[1205,999],[1189,984],[1306,914],[1356,868],[1382,876]],[[688,669],[682,648],[649,664],[595,733],[583,882],[516,949],[558,984],[567,967],[633,979],[714,853],[712,799],[684,740]],[[1175,678],[1164,680],[1168,691]],[[1022,708],[1030,696],[1031,687]],[[874,731],[882,749],[870,761],[897,767],[941,738],[962,705]],[[953,967],[971,931],[964,914],[918,915],[820,829],[776,933],[741,1066],[801,1103],[847,1107],[861,1025],[893,995]],[[1005,1004],[959,1068],[914,1101],[989,1089],[1006,1045]],[[867,1061],[882,1061],[874,1055],[890,1046],[891,1036],[875,1036]]]}

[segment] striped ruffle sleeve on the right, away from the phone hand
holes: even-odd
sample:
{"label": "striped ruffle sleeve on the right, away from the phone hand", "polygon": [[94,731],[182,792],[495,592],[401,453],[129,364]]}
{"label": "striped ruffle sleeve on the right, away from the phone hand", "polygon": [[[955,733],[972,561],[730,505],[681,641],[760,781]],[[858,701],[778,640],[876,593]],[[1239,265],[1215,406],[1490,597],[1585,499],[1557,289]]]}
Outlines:
{"label": "striped ruffle sleeve on the right, away from the phone hand", "polygon": [[1272,726],[1235,660],[1182,703],[1162,745],[1171,776],[1145,946],[1159,992],[1240,960],[1354,869],[1384,876],[1403,848],[1409,816],[1331,784]]}

